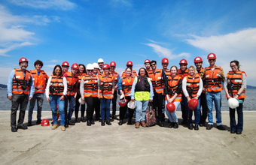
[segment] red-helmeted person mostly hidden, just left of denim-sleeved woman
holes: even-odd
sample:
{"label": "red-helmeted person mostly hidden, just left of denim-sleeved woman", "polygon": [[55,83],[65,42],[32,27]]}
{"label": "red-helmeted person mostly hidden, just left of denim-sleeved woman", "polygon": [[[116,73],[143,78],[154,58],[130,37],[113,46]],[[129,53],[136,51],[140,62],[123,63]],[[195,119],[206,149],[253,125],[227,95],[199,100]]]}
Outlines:
{"label": "red-helmeted person mostly hidden, just left of denim-sleeved woman", "polygon": [[115,62],[110,62],[110,74],[114,77],[114,98],[112,99],[112,119],[117,119],[115,113],[117,110],[117,83],[120,80],[119,74],[114,69],[116,68]]}

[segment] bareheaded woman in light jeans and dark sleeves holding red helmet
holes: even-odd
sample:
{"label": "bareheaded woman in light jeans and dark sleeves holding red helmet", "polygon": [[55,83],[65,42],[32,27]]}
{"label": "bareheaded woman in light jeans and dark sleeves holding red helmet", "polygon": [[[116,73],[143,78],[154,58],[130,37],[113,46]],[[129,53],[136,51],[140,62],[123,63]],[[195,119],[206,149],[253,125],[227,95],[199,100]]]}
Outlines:
{"label": "bareheaded woman in light jeans and dark sleeves holding red helmet", "polygon": [[172,66],[170,70],[171,75],[166,78],[164,85],[164,93],[166,95],[165,105],[168,103],[173,103],[175,105],[175,111],[170,113],[168,110],[166,110],[166,115],[171,122],[169,128],[178,128],[178,117],[176,115],[176,110],[181,102],[182,80],[181,77],[178,76],[178,68],[176,66]]}

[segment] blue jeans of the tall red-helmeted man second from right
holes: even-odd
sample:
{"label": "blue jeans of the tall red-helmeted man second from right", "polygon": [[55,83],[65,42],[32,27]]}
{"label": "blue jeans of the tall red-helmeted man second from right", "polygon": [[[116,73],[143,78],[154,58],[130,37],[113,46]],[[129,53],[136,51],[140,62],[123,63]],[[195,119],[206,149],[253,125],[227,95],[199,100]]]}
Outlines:
{"label": "blue jeans of the tall red-helmeted man second from right", "polygon": [[206,95],[207,102],[207,115],[208,115],[208,124],[213,124],[212,117],[212,107],[213,101],[215,102],[215,110],[216,110],[216,124],[217,126],[221,125],[221,92],[208,92]]}

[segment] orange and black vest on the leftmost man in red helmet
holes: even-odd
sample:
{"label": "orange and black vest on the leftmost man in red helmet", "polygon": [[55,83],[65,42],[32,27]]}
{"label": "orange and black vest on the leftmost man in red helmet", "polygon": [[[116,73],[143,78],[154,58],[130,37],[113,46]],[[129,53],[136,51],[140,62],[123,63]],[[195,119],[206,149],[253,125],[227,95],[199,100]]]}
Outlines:
{"label": "orange and black vest on the leftmost man in red helmet", "polygon": [[[14,69],[15,75],[13,78],[12,93],[29,95],[29,87],[31,83],[31,74],[26,70],[25,77],[21,69]],[[23,87],[22,87],[23,86]],[[25,88],[25,89],[24,89]]]}

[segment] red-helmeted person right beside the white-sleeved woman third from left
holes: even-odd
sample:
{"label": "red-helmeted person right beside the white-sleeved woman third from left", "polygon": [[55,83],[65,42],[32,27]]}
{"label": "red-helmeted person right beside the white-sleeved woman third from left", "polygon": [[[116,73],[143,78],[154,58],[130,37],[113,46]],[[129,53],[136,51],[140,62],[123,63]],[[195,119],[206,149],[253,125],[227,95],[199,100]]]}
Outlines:
{"label": "red-helmeted person right beside the white-sleeved woman third from left", "polygon": [[73,123],[71,119],[75,109],[75,98],[78,92],[78,74],[77,73],[78,73],[78,64],[75,63],[71,66],[70,72],[66,72],[65,74],[63,74],[63,76],[66,77],[67,85],[68,85],[68,91],[65,97],[65,115],[68,109],[68,102],[69,102],[69,114],[66,116],[66,127],[69,127],[69,125],[75,125],[75,123]]}

